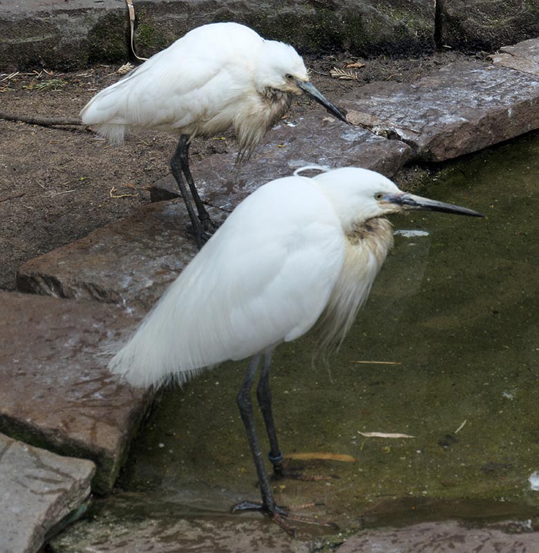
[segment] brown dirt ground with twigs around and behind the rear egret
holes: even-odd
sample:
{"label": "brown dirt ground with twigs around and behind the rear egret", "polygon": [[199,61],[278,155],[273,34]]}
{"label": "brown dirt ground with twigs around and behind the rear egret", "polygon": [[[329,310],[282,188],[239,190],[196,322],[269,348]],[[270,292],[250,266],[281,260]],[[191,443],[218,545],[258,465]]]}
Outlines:
{"label": "brown dirt ground with twigs around and behind the rear egret", "polygon": [[[463,57],[443,52],[415,59],[308,57],[312,82],[328,99],[375,80],[414,82],[439,66]],[[361,62],[357,79],[330,76],[334,67]],[[36,69],[5,73],[0,66],[0,111],[19,115],[77,118],[97,91],[120,78],[119,66],[96,65],[58,73]],[[299,99],[292,115],[316,108]],[[191,159],[226,151],[227,140],[196,140]],[[149,203],[149,187],[169,174],[176,146],[172,135],[137,131],[119,147],[82,128],[45,128],[0,119],[0,289],[13,290],[21,263],[73,242]]]}

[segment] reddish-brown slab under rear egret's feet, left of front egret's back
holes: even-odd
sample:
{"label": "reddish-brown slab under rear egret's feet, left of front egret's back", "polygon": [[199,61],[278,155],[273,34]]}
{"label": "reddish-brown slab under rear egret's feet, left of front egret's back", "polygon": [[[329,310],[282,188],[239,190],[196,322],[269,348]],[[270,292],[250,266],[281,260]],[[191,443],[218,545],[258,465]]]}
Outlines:
{"label": "reddish-brown slab under rear egret's feet, left of front egret's back", "polygon": [[[224,213],[210,209],[214,221]],[[146,310],[195,256],[182,200],[146,205],[129,218],[21,265],[17,286],[69,299]]]}

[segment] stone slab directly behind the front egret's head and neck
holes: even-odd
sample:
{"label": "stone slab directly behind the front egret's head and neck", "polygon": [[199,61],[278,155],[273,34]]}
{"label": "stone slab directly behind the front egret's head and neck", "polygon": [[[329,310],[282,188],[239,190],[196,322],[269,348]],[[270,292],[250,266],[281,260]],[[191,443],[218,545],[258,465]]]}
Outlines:
{"label": "stone slab directly behind the front egret's head and neck", "polygon": [[[236,153],[210,156],[191,169],[202,200],[230,212],[261,185],[290,176],[305,165],[352,165],[391,177],[410,155],[404,142],[387,140],[317,110],[274,127],[239,171],[234,165]],[[157,198],[178,194],[171,175],[155,182],[153,188]]]}

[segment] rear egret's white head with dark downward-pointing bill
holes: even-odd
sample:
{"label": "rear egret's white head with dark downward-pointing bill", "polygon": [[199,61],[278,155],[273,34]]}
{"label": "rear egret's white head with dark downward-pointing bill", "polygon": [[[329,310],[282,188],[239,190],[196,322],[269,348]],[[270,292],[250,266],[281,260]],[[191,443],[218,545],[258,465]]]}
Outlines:
{"label": "rear egret's white head with dark downward-pointing bill", "polygon": [[303,59],[289,44],[265,40],[258,59],[255,78],[259,92],[270,88],[288,94],[305,93],[336,118],[348,122],[346,115],[309,82]]}

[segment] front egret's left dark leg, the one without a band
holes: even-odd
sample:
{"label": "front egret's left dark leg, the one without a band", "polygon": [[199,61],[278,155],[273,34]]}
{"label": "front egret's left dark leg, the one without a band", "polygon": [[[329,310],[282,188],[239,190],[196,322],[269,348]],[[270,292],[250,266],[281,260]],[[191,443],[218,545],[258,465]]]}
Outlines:
{"label": "front egret's left dark leg, the one without a band", "polygon": [[251,401],[251,390],[258,364],[260,363],[260,357],[260,354],[254,355],[249,361],[249,368],[247,368],[247,373],[245,373],[245,379],[243,379],[243,384],[238,393],[237,402],[238,408],[240,409],[241,420],[243,420],[245,431],[247,432],[247,440],[249,440],[249,446],[253,453],[254,466],[256,467],[256,474],[258,475],[258,484],[260,485],[263,507],[269,514],[275,515],[278,509],[275,505],[272,489],[269,486],[269,480],[264,468],[260,442],[258,442],[258,436],[256,435],[256,429],[254,427],[253,405]]}

